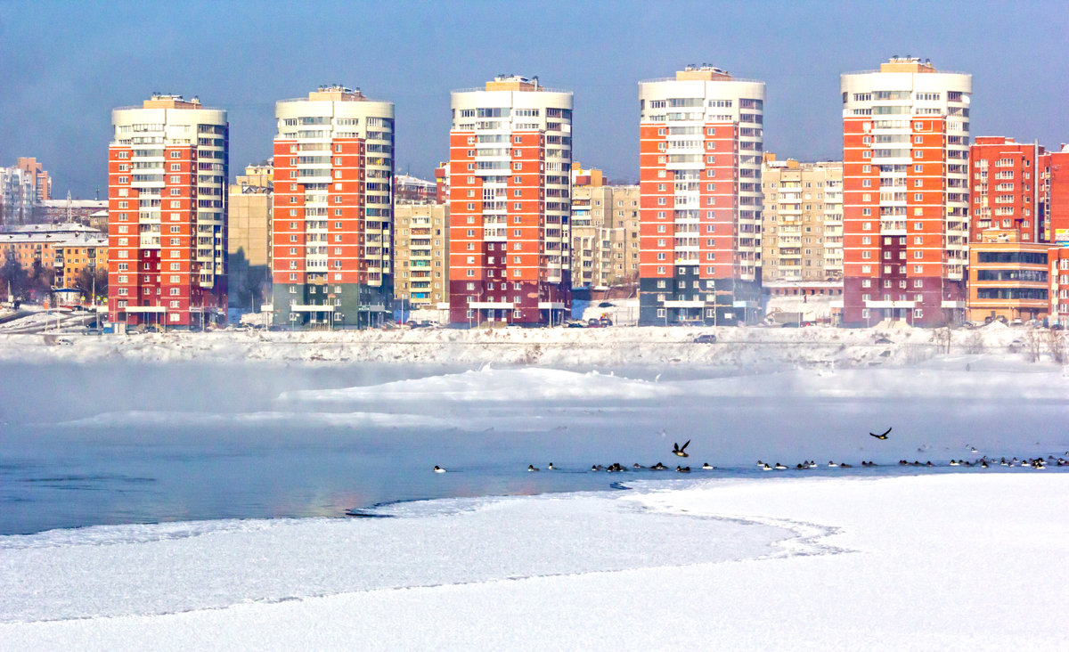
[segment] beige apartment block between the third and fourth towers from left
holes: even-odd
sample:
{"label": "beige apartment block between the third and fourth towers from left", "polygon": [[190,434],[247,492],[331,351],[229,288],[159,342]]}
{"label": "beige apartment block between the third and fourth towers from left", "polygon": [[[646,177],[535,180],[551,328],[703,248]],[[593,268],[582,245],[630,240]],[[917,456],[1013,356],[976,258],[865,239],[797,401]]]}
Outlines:
{"label": "beige apartment block between the third and fourth towers from left", "polygon": [[572,285],[638,279],[638,186],[572,188]]}

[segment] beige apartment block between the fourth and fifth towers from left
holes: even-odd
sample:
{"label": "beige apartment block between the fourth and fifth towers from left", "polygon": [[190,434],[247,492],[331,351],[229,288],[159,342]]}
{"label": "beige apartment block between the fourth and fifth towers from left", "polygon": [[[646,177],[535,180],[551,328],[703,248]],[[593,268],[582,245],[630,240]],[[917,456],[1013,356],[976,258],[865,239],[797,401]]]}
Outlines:
{"label": "beige apartment block between the fourth and fifth towers from left", "polygon": [[764,282],[842,279],[842,164],[776,160],[765,154],[761,186]]}

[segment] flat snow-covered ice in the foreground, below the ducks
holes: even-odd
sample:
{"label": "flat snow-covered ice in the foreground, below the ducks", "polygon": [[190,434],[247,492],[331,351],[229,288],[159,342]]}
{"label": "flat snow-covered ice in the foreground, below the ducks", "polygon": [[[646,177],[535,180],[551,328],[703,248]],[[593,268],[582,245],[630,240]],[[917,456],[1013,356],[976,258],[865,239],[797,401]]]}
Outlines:
{"label": "flat snow-covered ice in the foreground, below the ducks", "polygon": [[1069,474],[637,483],[0,539],[0,648],[1064,649]]}

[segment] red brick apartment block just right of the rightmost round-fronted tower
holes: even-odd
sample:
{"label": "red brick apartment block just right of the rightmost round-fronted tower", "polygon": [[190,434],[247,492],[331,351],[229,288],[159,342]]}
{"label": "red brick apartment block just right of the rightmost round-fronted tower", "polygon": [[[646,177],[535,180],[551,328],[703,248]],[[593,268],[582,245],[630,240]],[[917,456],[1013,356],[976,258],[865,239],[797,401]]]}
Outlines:
{"label": "red brick apartment block just right of the rightmost round-fronted tower", "polygon": [[969,149],[970,242],[988,229],[1016,231],[1017,242],[1043,239],[1045,152],[1002,136],[977,137]]}

